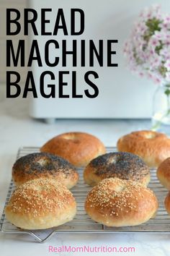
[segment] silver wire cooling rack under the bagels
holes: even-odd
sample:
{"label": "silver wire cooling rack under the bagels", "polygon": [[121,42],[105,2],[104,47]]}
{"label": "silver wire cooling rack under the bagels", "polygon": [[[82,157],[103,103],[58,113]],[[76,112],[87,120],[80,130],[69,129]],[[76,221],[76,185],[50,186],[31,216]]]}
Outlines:
{"label": "silver wire cooling rack under the bagels", "polygon": [[[116,148],[107,148],[107,152],[114,152]],[[22,157],[30,153],[39,152],[39,148],[19,148],[17,158]],[[19,229],[16,226],[6,221],[5,214],[3,212],[0,221],[0,231],[6,233],[17,233],[17,234],[30,234],[34,237],[37,242],[45,242],[54,234],[58,233],[130,233],[130,232],[149,232],[149,233],[170,233],[170,216],[166,213],[164,208],[164,198],[166,197],[167,191],[156,178],[156,169],[151,169],[151,182],[148,187],[153,189],[156,193],[156,197],[159,201],[159,208],[155,218],[152,218],[146,223],[140,224],[139,226],[127,226],[120,228],[110,228],[102,224],[96,223],[86,215],[84,211],[84,200],[87,193],[91,189],[88,185],[84,184],[83,180],[83,168],[79,168],[79,183],[71,189],[77,202],[77,214],[73,221],[58,226],[53,229],[45,230],[24,230]],[[6,197],[6,203],[14,191],[13,182],[9,185],[9,191]]]}

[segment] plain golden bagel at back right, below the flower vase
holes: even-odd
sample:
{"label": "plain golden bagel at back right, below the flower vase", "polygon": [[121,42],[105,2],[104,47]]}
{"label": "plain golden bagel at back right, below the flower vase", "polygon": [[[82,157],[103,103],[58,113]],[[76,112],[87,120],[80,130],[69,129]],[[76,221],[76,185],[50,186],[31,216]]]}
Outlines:
{"label": "plain golden bagel at back right, below the flower vase", "polygon": [[157,167],[170,157],[170,139],[161,132],[131,132],[117,141],[119,151],[139,155],[150,167]]}

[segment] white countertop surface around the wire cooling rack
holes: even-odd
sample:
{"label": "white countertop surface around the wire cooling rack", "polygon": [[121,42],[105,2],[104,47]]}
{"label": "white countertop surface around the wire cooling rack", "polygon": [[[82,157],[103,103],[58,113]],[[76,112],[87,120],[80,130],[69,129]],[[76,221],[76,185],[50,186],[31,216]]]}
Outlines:
{"label": "white countertop surface around the wire cooling rack", "polygon": [[[40,146],[51,137],[68,131],[89,132],[105,145],[114,146],[120,136],[150,127],[149,121],[139,120],[57,120],[55,124],[45,124],[29,118],[26,100],[1,101],[0,116],[0,215],[19,147]],[[48,252],[49,245],[135,247],[135,252],[91,252],[89,255],[170,255],[170,234],[58,234],[45,244],[32,241],[27,235],[0,234],[0,255],[80,255],[79,252]],[[87,255],[87,252],[81,255]]]}

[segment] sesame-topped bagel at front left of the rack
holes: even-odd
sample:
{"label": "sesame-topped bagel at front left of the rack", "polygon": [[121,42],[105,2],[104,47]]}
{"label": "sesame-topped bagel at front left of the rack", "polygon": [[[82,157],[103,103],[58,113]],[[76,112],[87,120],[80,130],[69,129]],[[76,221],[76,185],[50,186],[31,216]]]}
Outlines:
{"label": "sesame-topped bagel at front left of the rack", "polygon": [[54,179],[33,179],[17,187],[5,214],[19,228],[48,229],[71,221],[76,215],[76,201]]}

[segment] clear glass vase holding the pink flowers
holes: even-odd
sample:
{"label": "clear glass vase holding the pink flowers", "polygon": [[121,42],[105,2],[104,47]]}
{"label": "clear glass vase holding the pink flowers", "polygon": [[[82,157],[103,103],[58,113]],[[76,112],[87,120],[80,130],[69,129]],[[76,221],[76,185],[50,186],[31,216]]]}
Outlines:
{"label": "clear glass vase holding the pink flowers", "polygon": [[153,96],[152,130],[170,135],[170,83],[158,86]]}

